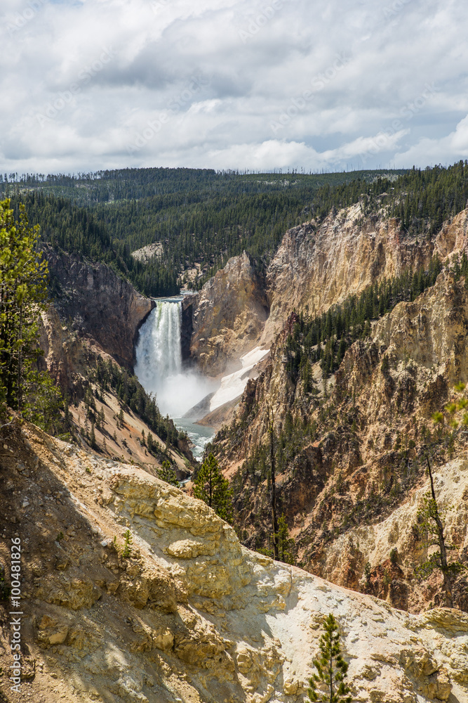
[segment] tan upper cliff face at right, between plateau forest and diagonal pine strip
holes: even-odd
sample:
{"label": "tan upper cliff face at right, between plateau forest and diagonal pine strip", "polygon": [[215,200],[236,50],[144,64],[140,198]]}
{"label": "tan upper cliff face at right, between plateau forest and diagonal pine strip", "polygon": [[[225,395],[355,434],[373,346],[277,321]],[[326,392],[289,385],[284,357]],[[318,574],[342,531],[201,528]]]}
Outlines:
{"label": "tan upper cliff face at right, between plateau forest and diagonal pine strip", "polygon": [[262,341],[281,331],[293,309],[326,311],[345,297],[382,278],[412,267],[428,266],[432,254],[445,259],[467,246],[468,210],[444,224],[434,240],[408,238],[399,221],[364,217],[360,203],[295,227],[283,237],[268,267],[266,290],[270,316]]}

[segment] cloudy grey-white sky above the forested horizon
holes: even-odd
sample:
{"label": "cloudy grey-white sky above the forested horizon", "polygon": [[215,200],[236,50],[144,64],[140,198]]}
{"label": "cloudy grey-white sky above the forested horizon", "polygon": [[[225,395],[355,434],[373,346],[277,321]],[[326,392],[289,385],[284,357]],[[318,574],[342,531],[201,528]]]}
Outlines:
{"label": "cloudy grey-white sky above the forested horizon", "polygon": [[468,158],[462,0],[1,0],[0,171]]}

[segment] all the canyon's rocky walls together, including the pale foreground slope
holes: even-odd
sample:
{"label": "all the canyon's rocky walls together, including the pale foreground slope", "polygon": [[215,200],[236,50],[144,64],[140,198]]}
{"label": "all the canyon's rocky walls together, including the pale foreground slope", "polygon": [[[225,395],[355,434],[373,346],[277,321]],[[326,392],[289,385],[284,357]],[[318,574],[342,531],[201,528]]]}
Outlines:
{"label": "all the canyon's rocky walls together, including the pale foreground slope", "polygon": [[[454,582],[456,607],[443,607],[437,572],[417,576],[429,552],[415,529],[430,444],[446,535],[467,565],[467,430],[460,423],[453,441],[439,439],[431,419],[460,396],[455,383],[468,382],[468,292],[449,266],[467,230],[464,210],[418,239],[358,203],[288,231],[265,270],[244,252],[183,299],[181,363],[239,381],[239,396],[201,420],[220,429],[211,447],[234,489],[235,529],[192,498],[190,484],[157,477],[161,461],[142,441],[149,427],[115,389],[100,395],[105,432],[91,449],[84,399],[101,391],[90,369],[115,363],[131,374],[154,301],[105,264],[48,250],[54,301],[40,344],[81,434],[72,443],[19,418],[2,430],[1,562],[21,536],[27,645],[22,692],[11,692],[0,604],[0,699],[304,701],[333,612],[354,700],[468,700],[466,573]],[[434,285],[374,319],[329,378],[314,364],[313,392],[292,378],[287,342],[300,314],[427,269],[435,255]],[[249,354],[261,360],[252,366]],[[276,491],[296,565],[256,551],[271,533],[261,455],[270,413],[277,441],[290,432]],[[187,444],[167,449],[187,476]]]}

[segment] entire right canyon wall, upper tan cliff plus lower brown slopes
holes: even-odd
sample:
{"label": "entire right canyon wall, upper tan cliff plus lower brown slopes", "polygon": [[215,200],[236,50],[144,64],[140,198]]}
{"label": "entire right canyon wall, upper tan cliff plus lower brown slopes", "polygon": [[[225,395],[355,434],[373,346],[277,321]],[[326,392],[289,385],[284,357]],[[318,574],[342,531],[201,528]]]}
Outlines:
{"label": "entire right canyon wall, upper tan cliff plus lower brown slopes", "polygon": [[[267,298],[269,317],[250,341],[251,347],[271,347],[269,356],[256,378],[244,380],[243,396],[222,418],[226,424],[214,440],[216,456],[233,482],[238,534],[250,548],[266,546],[271,533],[269,479],[260,469],[258,448],[269,445],[269,412],[278,436],[289,414],[296,427],[295,449],[276,476],[276,488],[298,563],[333,583],[373,593],[412,612],[441,603],[435,574],[426,582],[414,577],[427,555],[414,534],[415,505],[427,491],[424,433],[432,430],[432,414],[453,399],[455,383],[468,382],[467,291],[464,280],[447,269],[466,250],[467,224],[464,210],[436,236],[418,241],[399,230],[395,220],[366,219],[355,205],[330,214],[320,228],[312,222],[288,231],[264,278],[261,296]],[[427,269],[434,256],[446,263],[435,285],[374,321],[370,337],[354,342],[326,387],[319,363],[312,368],[312,395],[290,377],[286,341],[295,315],[323,313],[349,292],[357,294],[371,281],[398,276],[408,266]],[[203,290],[201,297],[206,309]],[[207,327],[208,319],[206,311]],[[216,369],[220,358],[231,354],[232,336],[225,354],[219,340],[217,344]],[[317,428],[314,437],[300,430],[307,423]],[[456,443],[455,456],[464,466],[462,427]],[[453,486],[460,489],[447,520],[456,553],[467,560],[468,482],[464,470],[446,464],[453,451],[447,444],[439,447],[434,462],[444,470],[450,467],[439,486],[447,510]],[[397,523],[405,527],[399,531]],[[392,549],[398,555],[394,563],[389,559]],[[456,591],[457,605],[468,610],[464,576]]]}

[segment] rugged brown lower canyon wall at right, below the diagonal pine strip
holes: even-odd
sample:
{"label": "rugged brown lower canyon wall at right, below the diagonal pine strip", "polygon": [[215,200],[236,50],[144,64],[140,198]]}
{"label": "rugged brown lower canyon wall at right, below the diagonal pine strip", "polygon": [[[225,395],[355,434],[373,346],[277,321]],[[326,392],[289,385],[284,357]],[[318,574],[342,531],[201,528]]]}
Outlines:
{"label": "rugged brown lower canyon wall at right, below the diagonal pine strip", "polygon": [[[432,446],[434,464],[443,465],[441,480],[448,471],[444,465],[448,456],[460,458],[464,466],[463,426],[453,434],[443,430],[439,437],[431,415],[450,399],[455,382],[468,381],[467,330],[464,282],[441,273],[436,285],[413,303],[400,303],[375,323],[372,339],[348,349],[326,394],[323,389],[307,393],[302,382],[293,382],[283,358],[288,330],[280,335],[267,369],[249,383],[235,422],[216,442],[227,472],[235,472],[245,543],[265,544],[271,531],[267,471],[262,472],[258,453],[269,442],[270,409],[276,432],[284,438],[279,441],[285,442],[286,456],[279,456],[276,479],[279,510],[288,517],[300,562],[334,583],[367,590],[413,612],[441,602],[439,582],[424,585],[414,579],[415,564],[425,558],[414,534],[415,505],[420,502],[416,497],[420,487],[427,491],[427,445]],[[321,370],[314,368],[315,372],[321,380]],[[288,413],[289,435],[285,434]],[[453,508],[453,524],[458,527],[451,529],[451,536],[466,562],[468,475],[460,466],[453,469],[458,478],[447,482],[460,483]],[[442,498],[447,505],[450,494],[455,492]],[[389,528],[395,520],[405,525],[401,542]],[[380,549],[370,548],[372,535],[381,532],[392,533],[394,546],[389,537],[385,548],[383,543]],[[369,543],[362,534],[369,536]],[[398,550],[399,569],[389,562],[392,548]],[[467,595],[463,576],[457,584],[459,607],[468,608]]]}

